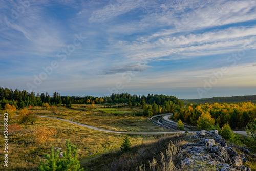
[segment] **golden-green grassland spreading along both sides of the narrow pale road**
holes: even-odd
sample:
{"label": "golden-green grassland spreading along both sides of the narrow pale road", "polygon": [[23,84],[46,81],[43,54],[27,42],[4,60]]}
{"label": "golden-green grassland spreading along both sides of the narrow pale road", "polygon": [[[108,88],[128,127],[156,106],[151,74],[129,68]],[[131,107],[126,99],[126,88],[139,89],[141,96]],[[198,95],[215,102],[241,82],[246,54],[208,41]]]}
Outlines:
{"label": "golden-green grassland spreading along both sides of the narrow pale road", "polygon": [[[134,112],[141,111],[140,108],[124,106],[120,108],[106,108],[106,106],[95,105],[94,109],[90,105],[75,104],[72,108],[58,107],[57,114],[41,107],[34,107],[32,110],[37,115],[54,116],[63,119],[74,118],[73,121],[86,123],[96,127],[109,130],[121,131],[166,131],[159,128],[145,117],[130,116]],[[86,111],[85,115],[80,116]],[[104,111],[104,112],[102,112]],[[4,110],[0,111],[4,113]],[[114,113],[117,113],[116,116]],[[9,124],[17,122],[17,117]],[[51,118],[39,118],[34,125],[30,123],[20,124],[22,132],[15,136],[9,136],[9,170],[37,170],[37,167],[44,159],[44,154],[49,153],[46,144],[36,144],[33,131],[37,126],[46,126],[57,130],[54,141],[51,145],[65,149],[66,139],[77,146],[78,159],[82,165],[92,158],[99,157],[113,149],[120,149],[123,141],[123,134],[105,133],[91,130],[83,126],[75,125],[65,121]],[[0,116],[0,130],[4,129],[4,118]],[[133,145],[152,142],[161,135],[130,135]],[[4,148],[3,139],[0,148]],[[3,161],[3,158],[2,158]],[[4,169],[0,165],[0,170]]]}

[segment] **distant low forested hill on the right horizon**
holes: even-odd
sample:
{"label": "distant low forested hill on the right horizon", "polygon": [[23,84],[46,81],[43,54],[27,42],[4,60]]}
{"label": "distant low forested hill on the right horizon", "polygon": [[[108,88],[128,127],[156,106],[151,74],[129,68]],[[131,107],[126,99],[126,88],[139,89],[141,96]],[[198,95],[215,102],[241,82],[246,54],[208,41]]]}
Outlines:
{"label": "distant low forested hill on the right horizon", "polygon": [[250,96],[232,96],[232,97],[212,97],[204,99],[189,99],[181,100],[184,104],[194,103],[241,103],[241,102],[253,102],[256,103],[256,95]]}

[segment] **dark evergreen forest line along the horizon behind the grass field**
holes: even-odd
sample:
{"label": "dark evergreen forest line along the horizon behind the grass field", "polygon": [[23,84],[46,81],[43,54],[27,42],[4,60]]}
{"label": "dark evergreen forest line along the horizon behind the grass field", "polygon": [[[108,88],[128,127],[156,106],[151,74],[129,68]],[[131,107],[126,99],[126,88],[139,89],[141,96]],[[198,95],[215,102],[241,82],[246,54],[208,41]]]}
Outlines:
{"label": "dark evergreen forest line along the horizon behind the grass field", "polygon": [[153,95],[147,96],[131,95],[129,93],[112,94],[109,97],[93,97],[93,96],[60,96],[58,92],[54,92],[52,95],[46,93],[27,92],[26,90],[20,91],[15,89],[0,88],[0,105],[4,108],[5,104],[14,105],[16,108],[24,108],[28,106],[42,106],[42,104],[48,103],[52,105],[66,105],[71,107],[72,104],[104,104],[104,103],[127,103],[129,105],[142,105],[153,104],[154,106],[163,106],[163,108],[169,108],[172,105],[173,108],[183,106],[182,101],[174,96],[166,95]]}

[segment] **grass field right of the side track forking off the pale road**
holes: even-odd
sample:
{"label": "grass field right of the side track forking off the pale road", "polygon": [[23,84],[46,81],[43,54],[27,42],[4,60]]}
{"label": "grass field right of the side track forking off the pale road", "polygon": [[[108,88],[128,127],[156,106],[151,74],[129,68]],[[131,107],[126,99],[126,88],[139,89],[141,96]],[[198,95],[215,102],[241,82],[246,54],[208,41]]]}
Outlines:
{"label": "grass field right of the side track forking off the pale road", "polygon": [[144,116],[134,116],[135,112],[142,112],[139,107],[122,106],[119,108],[104,108],[95,105],[95,108],[82,116],[72,119],[75,122],[100,127],[102,129],[127,132],[166,132],[167,129],[159,127]]}

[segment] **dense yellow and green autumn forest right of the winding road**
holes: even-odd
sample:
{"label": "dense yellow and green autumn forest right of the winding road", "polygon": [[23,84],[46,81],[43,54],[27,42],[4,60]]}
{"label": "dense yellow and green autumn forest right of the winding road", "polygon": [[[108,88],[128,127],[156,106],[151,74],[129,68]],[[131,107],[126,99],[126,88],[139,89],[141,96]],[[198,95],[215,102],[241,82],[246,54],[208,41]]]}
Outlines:
{"label": "dense yellow and green autumn forest right of the winding road", "polygon": [[256,119],[256,104],[243,103],[214,103],[189,104],[174,113],[174,119],[199,126],[200,118],[204,118],[208,126],[223,127],[228,123],[232,129],[244,127]]}

